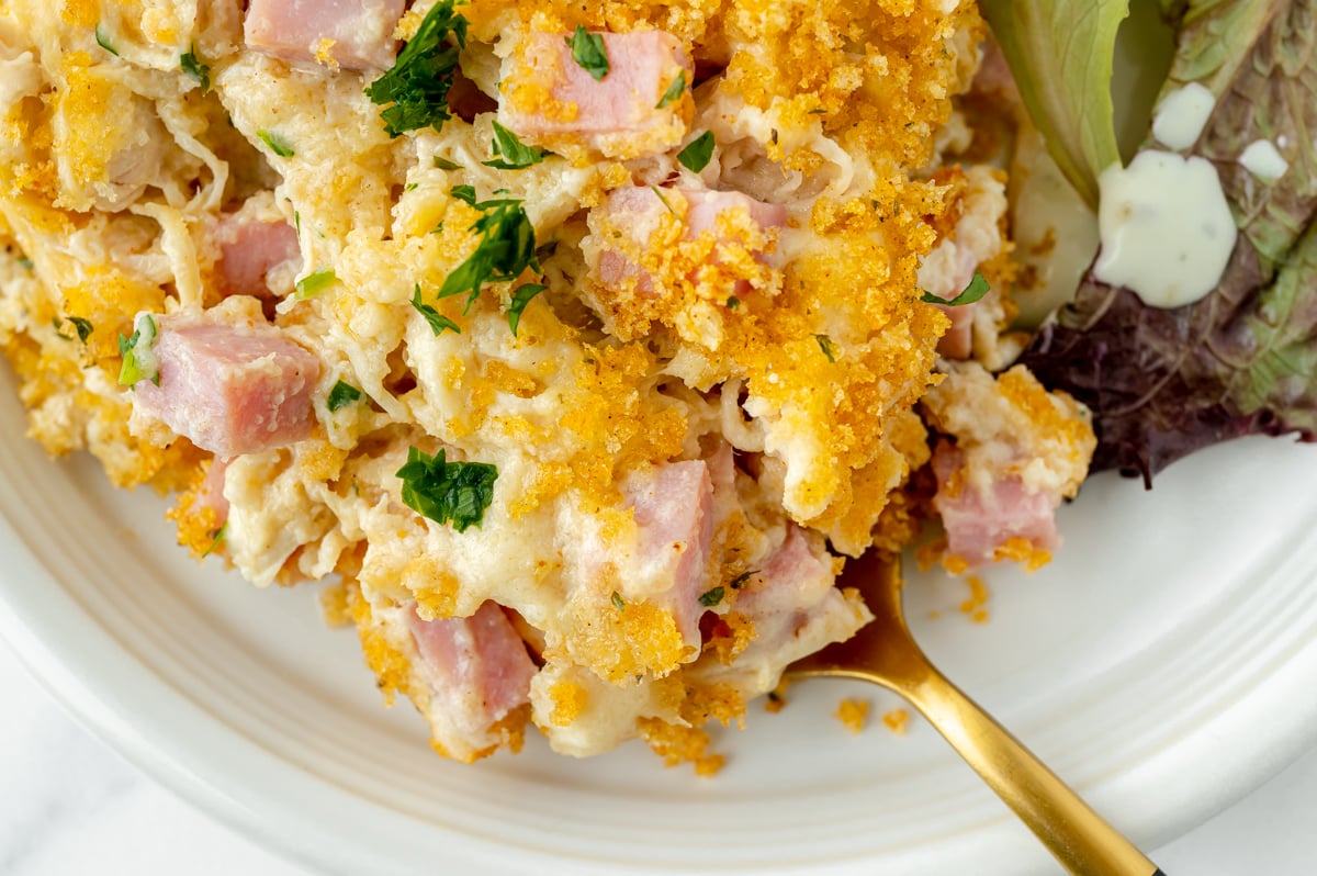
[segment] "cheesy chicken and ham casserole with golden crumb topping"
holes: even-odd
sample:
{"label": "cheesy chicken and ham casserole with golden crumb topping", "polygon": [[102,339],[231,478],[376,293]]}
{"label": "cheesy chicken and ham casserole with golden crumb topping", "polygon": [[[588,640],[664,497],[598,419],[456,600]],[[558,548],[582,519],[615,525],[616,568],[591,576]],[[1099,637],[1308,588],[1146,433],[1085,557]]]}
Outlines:
{"label": "cheesy chicken and ham casserole with golden crumb topping", "polygon": [[30,435],[324,581],[441,755],[712,772],[869,619],[848,557],[1056,548],[1094,436],[1008,368],[1027,123],[973,3],[0,11]]}

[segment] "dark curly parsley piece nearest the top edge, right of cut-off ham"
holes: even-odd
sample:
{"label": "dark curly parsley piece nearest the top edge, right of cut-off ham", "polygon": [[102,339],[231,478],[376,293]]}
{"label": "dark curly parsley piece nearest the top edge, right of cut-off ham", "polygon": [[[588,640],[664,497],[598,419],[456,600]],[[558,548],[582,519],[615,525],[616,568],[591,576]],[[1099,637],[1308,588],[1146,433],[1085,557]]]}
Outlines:
{"label": "dark curly parsley piece nearest the top edge, right of cut-off ham", "polygon": [[453,0],[436,3],[398,53],[392,70],[366,86],[390,137],[431,126],[440,130],[452,119],[448,90],[457,74],[457,51],[466,47],[466,18],[453,12]]}

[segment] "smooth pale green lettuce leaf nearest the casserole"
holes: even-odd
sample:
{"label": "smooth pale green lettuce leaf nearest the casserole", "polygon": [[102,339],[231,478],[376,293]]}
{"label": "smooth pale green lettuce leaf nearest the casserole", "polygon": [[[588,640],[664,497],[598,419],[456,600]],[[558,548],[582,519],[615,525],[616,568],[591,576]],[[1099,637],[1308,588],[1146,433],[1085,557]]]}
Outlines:
{"label": "smooth pale green lettuce leaf nearest the casserole", "polygon": [[1030,117],[1089,207],[1121,159],[1112,105],[1115,34],[1129,0],[981,0]]}

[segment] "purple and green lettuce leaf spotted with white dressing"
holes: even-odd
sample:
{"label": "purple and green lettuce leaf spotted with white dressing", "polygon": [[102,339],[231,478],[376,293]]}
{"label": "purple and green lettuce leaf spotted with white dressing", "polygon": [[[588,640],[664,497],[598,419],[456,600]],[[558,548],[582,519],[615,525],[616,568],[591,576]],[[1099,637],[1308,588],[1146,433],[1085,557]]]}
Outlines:
{"label": "purple and green lettuce leaf spotted with white dressing", "polygon": [[[1317,0],[1193,0],[1183,14],[1167,90],[1217,95],[1192,153],[1217,167],[1239,227],[1221,283],[1160,310],[1089,273],[1021,358],[1093,411],[1093,469],[1147,485],[1217,441],[1317,440]],[[1270,186],[1238,163],[1263,138],[1289,162]]]}

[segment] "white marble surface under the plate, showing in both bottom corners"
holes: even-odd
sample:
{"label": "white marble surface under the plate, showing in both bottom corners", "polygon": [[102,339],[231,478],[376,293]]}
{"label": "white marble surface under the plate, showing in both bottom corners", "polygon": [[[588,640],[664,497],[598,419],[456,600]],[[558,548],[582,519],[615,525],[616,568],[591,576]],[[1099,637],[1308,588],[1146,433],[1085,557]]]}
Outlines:
{"label": "white marble surface under the plate, showing in both bottom corners", "polygon": [[[0,875],[315,876],[125,763],[3,645],[0,702]],[[1168,876],[1310,876],[1314,825],[1317,751],[1152,858]]]}

